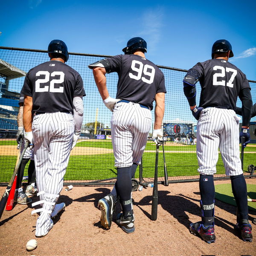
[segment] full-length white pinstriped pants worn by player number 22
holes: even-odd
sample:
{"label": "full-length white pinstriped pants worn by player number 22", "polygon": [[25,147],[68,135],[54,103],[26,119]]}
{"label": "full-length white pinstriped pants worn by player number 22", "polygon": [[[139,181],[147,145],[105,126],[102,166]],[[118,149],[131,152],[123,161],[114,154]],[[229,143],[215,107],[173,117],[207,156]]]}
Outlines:
{"label": "full-length white pinstriped pants worn by player number 22", "polygon": [[[73,115],[69,113],[44,113],[34,116],[35,171],[40,200],[55,203],[63,187],[74,134]],[[54,204],[44,203],[43,209],[52,211]],[[36,225],[36,236],[46,233],[50,214],[41,212]]]}

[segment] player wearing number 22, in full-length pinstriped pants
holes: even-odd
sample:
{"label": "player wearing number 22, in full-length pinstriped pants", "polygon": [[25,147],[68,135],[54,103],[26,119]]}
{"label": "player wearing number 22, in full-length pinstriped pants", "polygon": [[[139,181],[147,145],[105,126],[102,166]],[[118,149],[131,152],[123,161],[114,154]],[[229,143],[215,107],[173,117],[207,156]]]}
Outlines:
{"label": "player wearing number 22, in full-length pinstriped pants", "polygon": [[[26,75],[21,93],[24,137],[34,145],[35,171],[41,212],[35,236],[46,236],[53,226],[51,217],[64,209],[56,204],[63,186],[70,150],[81,134],[83,121],[83,81],[65,62],[69,58],[66,44],[53,40],[48,46],[50,61],[32,68]],[[33,119],[32,119],[33,116]]]}

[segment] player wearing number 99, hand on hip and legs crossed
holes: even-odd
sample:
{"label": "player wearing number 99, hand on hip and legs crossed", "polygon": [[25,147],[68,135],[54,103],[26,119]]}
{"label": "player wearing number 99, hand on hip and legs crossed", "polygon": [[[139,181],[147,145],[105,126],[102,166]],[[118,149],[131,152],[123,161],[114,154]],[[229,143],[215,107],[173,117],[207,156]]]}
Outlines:
{"label": "player wearing number 99, hand on hip and legs crossed", "polygon": [[[164,114],[166,88],[160,69],[145,58],[147,44],[143,38],[131,38],[125,55],[116,55],[90,64],[103,102],[113,112],[111,136],[117,167],[117,179],[110,195],[99,200],[102,211],[101,223],[109,229],[117,195],[120,197],[122,213],[117,215],[117,224],[126,233],[132,233],[134,212],[132,207],[131,178],[134,176],[147,143],[151,128],[151,110],[155,100],[155,122],[153,140],[162,140],[161,125]],[[106,73],[117,72],[119,76],[116,99],[108,94]]]}

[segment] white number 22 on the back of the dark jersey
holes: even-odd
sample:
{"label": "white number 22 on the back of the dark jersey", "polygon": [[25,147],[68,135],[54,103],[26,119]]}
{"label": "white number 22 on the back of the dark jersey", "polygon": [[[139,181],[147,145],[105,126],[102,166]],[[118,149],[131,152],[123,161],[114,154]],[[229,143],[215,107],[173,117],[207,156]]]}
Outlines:
{"label": "white number 22 on the back of the dark jersey", "polygon": [[[44,87],[40,87],[40,84],[45,84],[49,82],[50,80],[50,73],[48,71],[38,71],[35,76],[41,76],[44,75],[44,79],[37,79],[35,81],[35,92],[51,92],[51,93],[63,93],[64,87],[61,85],[61,83],[64,82],[64,76],[65,74],[62,71],[54,71],[51,73],[51,77],[53,76],[60,76],[59,79],[52,79],[50,81],[50,89],[48,85],[45,85]],[[55,88],[55,84],[60,84],[58,88]]]}

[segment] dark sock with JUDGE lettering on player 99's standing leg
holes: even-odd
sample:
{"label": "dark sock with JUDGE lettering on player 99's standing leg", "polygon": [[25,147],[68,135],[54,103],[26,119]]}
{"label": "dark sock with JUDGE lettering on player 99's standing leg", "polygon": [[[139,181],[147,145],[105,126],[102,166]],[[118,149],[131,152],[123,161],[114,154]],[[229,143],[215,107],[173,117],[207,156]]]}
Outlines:
{"label": "dark sock with JUDGE lettering on player 99's standing leg", "polygon": [[120,196],[120,203],[123,212],[129,212],[132,209],[131,204],[131,166],[117,168],[116,192]]}

